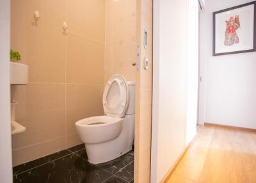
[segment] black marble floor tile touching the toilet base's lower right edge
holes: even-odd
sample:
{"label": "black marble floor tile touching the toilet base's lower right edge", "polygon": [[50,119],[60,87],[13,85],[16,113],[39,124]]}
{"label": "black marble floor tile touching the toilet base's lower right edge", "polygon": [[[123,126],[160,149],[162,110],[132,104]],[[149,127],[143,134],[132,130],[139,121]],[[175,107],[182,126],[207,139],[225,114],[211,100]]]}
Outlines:
{"label": "black marble floor tile touching the toilet base's lower right edge", "polygon": [[127,164],[131,163],[134,160],[134,155],[132,153],[124,154],[112,161],[106,163],[97,164],[100,168],[109,171],[110,173],[116,173],[117,171],[124,168]]}

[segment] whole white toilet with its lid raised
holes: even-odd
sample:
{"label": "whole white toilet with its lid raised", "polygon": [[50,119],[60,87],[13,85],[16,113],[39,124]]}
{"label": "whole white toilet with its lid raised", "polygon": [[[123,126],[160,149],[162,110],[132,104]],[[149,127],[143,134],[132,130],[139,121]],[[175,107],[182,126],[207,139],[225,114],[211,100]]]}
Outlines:
{"label": "whole white toilet with its lid raised", "polygon": [[84,142],[88,161],[111,161],[132,149],[134,139],[135,82],[120,74],[111,76],[103,93],[104,116],[76,122],[76,131]]}

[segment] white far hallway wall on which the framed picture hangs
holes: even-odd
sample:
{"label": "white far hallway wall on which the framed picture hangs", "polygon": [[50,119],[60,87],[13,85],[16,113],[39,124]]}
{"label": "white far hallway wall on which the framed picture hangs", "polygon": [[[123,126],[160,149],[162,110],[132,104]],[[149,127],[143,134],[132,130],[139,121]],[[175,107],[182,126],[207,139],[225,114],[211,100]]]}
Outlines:
{"label": "white far hallway wall on which the framed picture hangs", "polygon": [[204,122],[256,129],[256,52],[212,56],[212,12],[248,2],[205,0]]}

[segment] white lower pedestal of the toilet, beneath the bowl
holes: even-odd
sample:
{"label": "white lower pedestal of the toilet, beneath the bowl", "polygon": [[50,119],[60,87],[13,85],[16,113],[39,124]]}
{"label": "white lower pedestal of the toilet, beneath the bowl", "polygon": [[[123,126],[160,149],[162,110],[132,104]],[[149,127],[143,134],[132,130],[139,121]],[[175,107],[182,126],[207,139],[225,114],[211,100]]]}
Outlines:
{"label": "white lower pedestal of the toilet, beneath the bowl", "polygon": [[134,115],[125,115],[120,135],[110,141],[86,144],[88,161],[93,164],[105,163],[132,150],[134,139]]}

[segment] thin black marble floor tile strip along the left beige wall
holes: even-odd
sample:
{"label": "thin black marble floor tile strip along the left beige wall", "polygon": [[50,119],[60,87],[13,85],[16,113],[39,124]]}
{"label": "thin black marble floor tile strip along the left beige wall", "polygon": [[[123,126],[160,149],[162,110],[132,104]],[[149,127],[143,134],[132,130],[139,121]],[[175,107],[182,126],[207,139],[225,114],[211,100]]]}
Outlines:
{"label": "thin black marble floor tile strip along the left beige wall", "polygon": [[54,154],[41,157],[39,159],[35,159],[34,161],[29,161],[28,163],[20,164],[18,166],[13,167],[13,175],[16,175],[17,173],[23,171],[27,171],[31,168],[35,168],[36,166],[40,166],[41,164],[48,163],[54,159],[58,159],[68,154],[71,154],[71,152],[68,150],[61,150],[60,152],[56,152]]}

